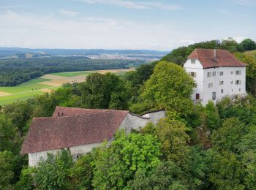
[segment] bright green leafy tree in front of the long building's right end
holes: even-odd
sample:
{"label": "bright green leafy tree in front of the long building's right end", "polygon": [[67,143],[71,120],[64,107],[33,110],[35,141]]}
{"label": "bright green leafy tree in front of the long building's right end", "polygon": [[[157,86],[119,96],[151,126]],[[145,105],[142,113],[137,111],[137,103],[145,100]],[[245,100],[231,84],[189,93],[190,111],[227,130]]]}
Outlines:
{"label": "bright green leafy tree in front of the long building's right end", "polygon": [[121,189],[140,169],[150,172],[159,164],[160,143],[150,134],[118,132],[110,147],[103,147],[94,160],[93,186]]}

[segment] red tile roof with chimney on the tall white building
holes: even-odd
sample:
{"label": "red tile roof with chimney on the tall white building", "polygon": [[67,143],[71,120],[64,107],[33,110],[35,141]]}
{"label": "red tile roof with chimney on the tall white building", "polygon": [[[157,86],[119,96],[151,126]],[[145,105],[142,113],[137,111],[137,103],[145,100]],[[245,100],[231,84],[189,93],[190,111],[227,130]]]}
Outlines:
{"label": "red tile roof with chimney on the tall white building", "polygon": [[219,66],[246,66],[227,50],[216,50],[216,53],[217,61],[214,61],[214,49],[195,49],[187,58],[199,59],[204,69]]}

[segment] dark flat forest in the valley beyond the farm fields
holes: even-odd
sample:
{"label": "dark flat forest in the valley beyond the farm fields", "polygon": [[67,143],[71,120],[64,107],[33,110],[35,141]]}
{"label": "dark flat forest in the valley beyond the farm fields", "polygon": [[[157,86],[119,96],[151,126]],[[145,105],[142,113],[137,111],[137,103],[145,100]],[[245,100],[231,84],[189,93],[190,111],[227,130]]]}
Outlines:
{"label": "dark flat forest in the valley beyond the farm fields", "polygon": [[0,59],[0,86],[16,86],[52,72],[127,69],[145,61],[90,59],[86,57]]}

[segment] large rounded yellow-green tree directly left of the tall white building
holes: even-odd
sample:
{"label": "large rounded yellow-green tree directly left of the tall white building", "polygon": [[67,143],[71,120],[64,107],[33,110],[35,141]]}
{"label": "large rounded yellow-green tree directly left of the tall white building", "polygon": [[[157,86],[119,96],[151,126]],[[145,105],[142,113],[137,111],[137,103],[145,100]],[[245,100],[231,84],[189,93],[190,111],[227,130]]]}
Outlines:
{"label": "large rounded yellow-green tree directly left of the tall white building", "polygon": [[181,66],[161,61],[146,82],[141,98],[151,107],[188,115],[192,111],[190,95],[193,87],[192,77]]}

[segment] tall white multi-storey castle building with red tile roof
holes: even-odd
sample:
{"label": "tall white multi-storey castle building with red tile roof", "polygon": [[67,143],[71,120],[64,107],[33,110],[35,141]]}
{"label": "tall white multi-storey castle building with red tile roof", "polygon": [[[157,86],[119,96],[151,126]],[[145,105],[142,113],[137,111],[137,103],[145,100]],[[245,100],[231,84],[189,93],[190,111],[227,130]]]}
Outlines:
{"label": "tall white multi-storey castle building with red tile roof", "polygon": [[194,77],[194,102],[206,105],[224,96],[246,94],[246,64],[227,50],[195,49],[187,57],[184,69]]}

